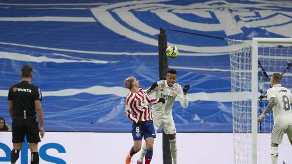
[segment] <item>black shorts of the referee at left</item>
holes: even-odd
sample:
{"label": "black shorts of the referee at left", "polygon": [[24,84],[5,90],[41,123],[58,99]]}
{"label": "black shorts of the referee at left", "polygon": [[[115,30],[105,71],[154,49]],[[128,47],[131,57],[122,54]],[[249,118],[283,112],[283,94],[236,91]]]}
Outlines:
{"label": "black shorts of the referee at left", "polygon": [[27,119],[15,116],[12,122],[12,142],[24,142],[25,135],[29,143],[40,142],[37,119],[34,116],[28,116]]}

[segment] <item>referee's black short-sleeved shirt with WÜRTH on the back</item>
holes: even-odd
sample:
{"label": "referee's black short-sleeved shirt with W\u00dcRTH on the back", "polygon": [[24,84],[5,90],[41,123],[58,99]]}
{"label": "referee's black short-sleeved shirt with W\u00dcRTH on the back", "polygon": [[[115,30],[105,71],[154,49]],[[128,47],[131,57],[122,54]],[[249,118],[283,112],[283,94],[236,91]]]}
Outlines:
{"label": "referee's black short-sleeved shirt with W\u00dcRTH on the back", "polygon": [[41,101],[41,92],[37,86],[32,85],[30,82],[20,81],[10,87],[8,100],[12,100],[13,115],[23,115],[24,110],[26,110],[27,115],[35,116],[34,101]]}

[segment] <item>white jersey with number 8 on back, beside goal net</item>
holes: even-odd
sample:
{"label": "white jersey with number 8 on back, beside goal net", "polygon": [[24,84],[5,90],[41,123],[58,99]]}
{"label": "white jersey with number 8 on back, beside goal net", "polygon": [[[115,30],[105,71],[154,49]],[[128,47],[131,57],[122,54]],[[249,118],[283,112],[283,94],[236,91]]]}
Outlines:
{"label": "white jersey with number 8 on back, beside goal net", "polygon": [[276,100],[276,105],[273,108],[274,125],[292,125],[291,91],[277,84],[267,90],[267,98],[271,97],[275,97]]}

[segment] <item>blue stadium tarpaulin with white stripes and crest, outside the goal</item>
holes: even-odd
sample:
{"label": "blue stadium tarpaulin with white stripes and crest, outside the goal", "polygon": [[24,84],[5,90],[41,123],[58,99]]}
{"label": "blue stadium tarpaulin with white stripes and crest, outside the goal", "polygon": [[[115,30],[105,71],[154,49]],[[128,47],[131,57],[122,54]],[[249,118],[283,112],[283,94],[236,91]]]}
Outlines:
{"label": "blue stadium tarpaulin with white stripes and crest, outside the goal", "polygon": [[[129,132],[124,114],[134,75],[158,80],[159,28],[252,39],[291,37],[289,1],[68,1],[0,3],[0,116],[11,125],[9,87],[34,68],[47,131]],[[178,132],[232,132],[230,58],[224,40],[167,31],[177,83],[190,84],[189,107],[176,101]]]}

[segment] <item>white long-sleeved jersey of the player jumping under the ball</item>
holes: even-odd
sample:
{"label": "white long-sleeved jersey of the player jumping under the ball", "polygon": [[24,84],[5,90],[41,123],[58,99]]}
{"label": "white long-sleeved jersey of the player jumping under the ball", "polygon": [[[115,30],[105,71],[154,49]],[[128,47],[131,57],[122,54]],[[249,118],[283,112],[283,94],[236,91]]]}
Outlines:
{"label": "white long-sleeved jersey of the player jumping under the ball", "polygon": [[151,110],[152,114],[161,119],[172,117],[172,107],[176,97],[179,99],[182,108],[187,108],[187,105],[189,105],[189,99],[186,95],[183,95],[179,84],[175,83],[172,87],[169,87],[166,80],[157,81],[157,84],[158,87],[150,91],[148,94],[155,92],[156,98],[163,97],[165,103],[153,105]]}

